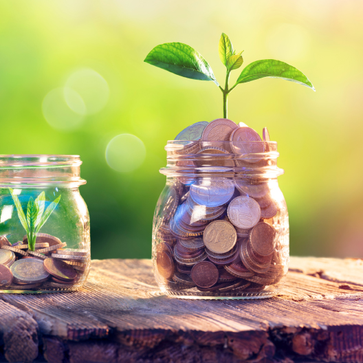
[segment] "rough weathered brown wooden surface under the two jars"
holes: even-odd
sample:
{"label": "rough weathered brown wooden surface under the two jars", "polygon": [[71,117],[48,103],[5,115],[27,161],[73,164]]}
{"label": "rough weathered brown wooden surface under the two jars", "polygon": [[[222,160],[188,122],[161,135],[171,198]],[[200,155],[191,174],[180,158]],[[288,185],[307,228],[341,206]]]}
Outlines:
{"label": "rough weathered brown wooden surface under the two jars", "polygon": [[0,361],[363,362],[363,262],[292,257],[264,300],[161,296],[149,260],[95,260],[80,292],[0,295]]}

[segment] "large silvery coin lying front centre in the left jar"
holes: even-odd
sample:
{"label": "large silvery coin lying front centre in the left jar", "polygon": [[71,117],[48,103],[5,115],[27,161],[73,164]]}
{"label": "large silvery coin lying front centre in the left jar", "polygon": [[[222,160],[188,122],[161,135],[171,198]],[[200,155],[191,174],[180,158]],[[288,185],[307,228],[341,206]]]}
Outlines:
{"label": "large silvery coin lying front centre in the left jar", "polygon": [[14,275],[14,283],[41,283],[50,276],[40,259],[20,259],[14,262],[10,270]]}

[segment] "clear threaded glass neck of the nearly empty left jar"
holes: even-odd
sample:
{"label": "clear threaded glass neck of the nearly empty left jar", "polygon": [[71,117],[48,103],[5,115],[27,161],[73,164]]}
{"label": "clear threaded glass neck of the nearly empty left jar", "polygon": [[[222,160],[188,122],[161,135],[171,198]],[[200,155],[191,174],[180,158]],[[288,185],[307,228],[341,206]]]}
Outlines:
{"label": "clear threaded glass neck of the nearly empty left jar", "polygon": [[0,186],[78,188],[81,164],[79,155],[0,155]]}

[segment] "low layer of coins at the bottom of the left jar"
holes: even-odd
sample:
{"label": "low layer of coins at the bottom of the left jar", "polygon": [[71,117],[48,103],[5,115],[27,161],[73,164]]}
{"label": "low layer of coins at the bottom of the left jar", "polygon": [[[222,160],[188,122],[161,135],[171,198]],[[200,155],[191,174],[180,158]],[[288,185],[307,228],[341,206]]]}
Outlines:
{"label": "low layer of coins at the bottom of the left jar", "polygon": [[71,288],[85,276],[89,261],[87,250],[67,248],[50,234],[37,234],[34,251],[27,236],[14,244],[0,236],[0,289]]}

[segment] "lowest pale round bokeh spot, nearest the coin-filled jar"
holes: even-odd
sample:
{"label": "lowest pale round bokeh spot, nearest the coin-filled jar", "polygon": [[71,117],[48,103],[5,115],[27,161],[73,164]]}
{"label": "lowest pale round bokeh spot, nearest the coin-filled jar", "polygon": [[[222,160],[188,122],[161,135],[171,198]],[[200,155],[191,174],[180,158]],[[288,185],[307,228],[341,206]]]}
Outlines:
{"label": "lowest pale round bokeh spot, nearest the coin-filled jar", "polygon": [[106,161],[113,170],[127,173],[141,166],[146,157],[142,140],[130,133],[113,137],[106,148]]}

